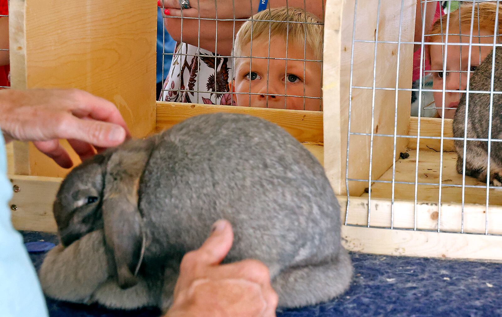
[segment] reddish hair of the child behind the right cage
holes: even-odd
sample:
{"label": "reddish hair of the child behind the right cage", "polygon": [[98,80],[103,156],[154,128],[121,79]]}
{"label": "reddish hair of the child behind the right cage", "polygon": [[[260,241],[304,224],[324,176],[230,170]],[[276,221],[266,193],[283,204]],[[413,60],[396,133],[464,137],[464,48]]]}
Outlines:
{"label": "reddish hair of the child behind the right cage", "polygon": [[[497,35],[502,34],[502,5],[498,8],[498,25]],[[495,29],[495,14],[497,12],[496,2],[483,2],[474,4],[474,22],[472,25],[472,36],[477,36],[477,28],[488,32],[493,32]],[[463,31],[470,31],[472,17],[472,4],[462,4],[460,7],[450,13],[449,34],[457,34],[460,30],[459,26],[467,26]],[[430,35],[446,34],[447,15],[442,16],[433,25],[429,32]]]}

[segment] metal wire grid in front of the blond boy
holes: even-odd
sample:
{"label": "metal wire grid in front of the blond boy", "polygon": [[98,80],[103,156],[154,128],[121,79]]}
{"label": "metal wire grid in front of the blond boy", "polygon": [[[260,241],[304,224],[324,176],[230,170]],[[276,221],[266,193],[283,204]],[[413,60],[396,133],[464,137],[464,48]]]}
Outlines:
{"label": "metal wire grid in front of the blond boy", "polygon": [[[253,0],[249,0],[250,1],[250,6],[253,10]],[[306,1],[307,0],[304,0],[304,10],[306,10]],[[197,0],[197,4],[199,3],[199,0]],[[183,17],[183,9],[181,10],[181,43],[183,43],[183,20],[197,20],[198,21],[198,43],[197,43],[197,52],[194,53],[194,54],[187,54],[187,53],[182,53],[181,52],[181,48],[178,49],[178,51],[176,52],[166,52],[165,50],[165,43],[166,43],[166,39],[165,39],[165,36],[163,38],[163,58],[162,58],[162,61],[163,61],[163,64],[164,64],[164,58],[165,56],[167,55],[171,55],[173,60],[174,58],[176,58],[176,56],[179,56],[180,58],[182,59],[188,59],[188,57],[192,57],[192,58],[197,58],[197,69],[200,70],[200,65],[201,65],[201,57],[208,57],[206,54],[201,54],[200,52],[200,22],[201,21],[215,21],[215,24],[216,24],[216,35],[218,34],[218,22],[224,22],[224,21],[231,21],[233,23],[233,32],[232,34],[236,34],[237,31],[238,31],[238,27],[236,28],[236,22],[245,22],[245,21],[248,21],[248,20],[251,20],[251,21],[258,21],[258,20],[253,20],[253,18],[249,18],[249,19],[238,19],[238,18],[235,18],[235,0],[232,1],[232,9],[233,9],[233,13],[234,13],[234,17],[233,19],[221,19],[221,18],[218,18],[217,16],[217,4],[216,4],[216,1],[215,1],[215,12],[216,12],[216,17],[215,18],[202,18],[200,17],[200,12],[199,12],[199,17]],[[323,15],[324,15],[324,3],[323,1],[320,1],[320,5],[322,5],[322,12],[323,12]],[[289,9],[289,5],[288,5],[288,1],[286,1],[286,8]],[[164,7],[162,8],[164,10]],[[271,10],[270,9],[270,6],[269,6],[269,11]],[[171,16],[166,16],[163,14],[163,17],[164,19],[172,19],[172,18],[176,18],[176,17],[171,17]],[[288,65],[288,61],[301,61],[303,62],[303,78],[305,78],[305,65],[307,62],[315,62],[315,63],[320,63],[320,66],[321,66],[321,72],[320,72],[320,76],[321,76],[321,80],[322,80],[322,59],[308,59],[306,56],[307,56],[307,38],[306,38],[306,34],[305,34],[305,38],[304,38],[304,47],[303,47],[303,55],[304,55],[304,58],[303,59],[298,59],[298,58],[291,58],[291,57],[288,57],[288,39],[289,39],[289,24],[302,24],[302,25],[323,25],[323,23],[311,23],[311,22],[307,22],[306,20],[306,16],[305,16],[305,21],[304,22],[296,22],[296,21],[289,21],[289,22],[284,22],[284,21],[277,21],[277,20],[260,20],[260,22],[269,22],[269,23],[272,23],[272,22],[275,22],[275,23],[287,23],[287,26],[288,26],[288,32],[286,34],[286,57],[285,58],[279,58],[279,57],[271,57],[270,56],[270,49],[271,49],[271,25],[269,24],[269,43],[268,43],[268,56],[267,57],[264,57],[264,56],[242,56],[242,57],[239,57],[239,58],[249,58],[250,61],[252,61],[252,58],[253,59],[266,59],[267,60],[267,73],[268,73],[268,70],[269,70],[269,66],[270,66],[270,60],[285,60],[285,63],[286,63],[286,69],[285,69],[285,77],[287,78],[287,75],[288,75],[288,72],[287,72],[287,65]],[[165,28],[165,26],[164,26]],[[251,28],[251,33],[253,34],[253,25],[252,25],[252,28]],[[216,38],[216,41],[215,41],[215,51],[217,51],[217,44],[218,43],[218,40]],[[233,47],[233,41],[232,41],[232,51],[234,49]],[[178,46],[177,46],[178,47]],[[321,48],[323,49],[323,48]],[[253,51],[253,36],[252,36],[252,39],[250,41],[250,51]],[[234,66],[235,66],[235,59],[236,57],[234,56],[231,56],[231,55],[217,55],[215,54],[214,58],[227,58],[229,60],[231,60],[231,64],[232,64],[232,67],[230,68],[230,80],[232,78],[234,78]],[[252,71],[252,63],[250,62],[249,63],[249,72]],[[215,66],[214,66],[214,72],[213,72],[213,76],[214,78],[216,79],[216,76],[217,76],[217,73],[218,73],[218,70],[217,70],[217,63],[215,63]],[[183,76],[183,74],[181,73],[181,67],[180,67],[180,73],[179,73],[179,76]],[[162,70],[162,78],[163,80],[166,79],[166,75],[164,74],[164,69]],[[165,89],[163,87],[162,89],[162,92],[161,92],[161,95],[164,95],[164,92],[177,92],[177,93],[190,93],[191,95],[195,96],[197,100],[200,100],[199,99],[199,93],[207,93],[208,92],[208,89],[204,90],[204,89],[201,89],[200,87],[200,80],[197,79],[197,88],[196,89],[183,89],[182,87],[174,87],[174,88],[171,88],[171,87],[167,87],[167,89]],[[286,85],[287,85],[287,82],[285,81],[285,92],[287,91],[286,89]],[[214,87],[216,88],[216,82],[214,83]],[[208,88],[208,87],[206,87]],[[214,89],[216,90],[216,89]],[[249,81],[249,91],[252,91],[251,89],[251,83]],[[284,97],[284,109],[287,109],[287,100],[288,100],[288,97],[301,97],[303,98],[303,110],[305,110],[305,102],[306,100],[308,99],[317,99],[319,100],[319,111],[322,111],[322,91],[321,91],[321,95],[320,96],[309,96],[306,94],[306,85],[305,85],[305,82],[303,83],[303,94],[291,94],[291,93],[270,93],[269,92],[269,78],[267,76],[267,92],[264,93],[264,92],[233,92],[233,91],[211,91],[211,94],[215,96],[215,100],[217,100],[218,98],[220,98],[222,95],[224,94],[227,94],[227,93],[230,93],[230,96],[231,96],[231,101],[232,101],[232,104],[234,101],[236,101],[236,95],[238,94],[241,94],[241,95],[248,95],[249,96],[249,104],[253,107],[253,104],[252,104],[252,101],[251,101],[251,96],[252,95],[262,95],[262,96],[265,96],[267,98],[267,108],[269,107],[268,105],[268,101],[269,101],[269,98],[270,97]],[[216,102],[217,103],[217,102]],[[238,104],[237,104],[238,105]]]}

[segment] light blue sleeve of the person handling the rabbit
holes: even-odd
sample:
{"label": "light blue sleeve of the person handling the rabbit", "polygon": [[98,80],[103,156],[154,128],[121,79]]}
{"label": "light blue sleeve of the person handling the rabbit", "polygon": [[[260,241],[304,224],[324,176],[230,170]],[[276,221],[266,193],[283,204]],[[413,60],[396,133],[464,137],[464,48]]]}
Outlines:
{"label": "light blue sleeve of the person handling the rabbit", "polygon": [[12,226],[11,197],[4,138],[0,136],[0,315],[44,317],[47,308],[37,275],[22,236]]}

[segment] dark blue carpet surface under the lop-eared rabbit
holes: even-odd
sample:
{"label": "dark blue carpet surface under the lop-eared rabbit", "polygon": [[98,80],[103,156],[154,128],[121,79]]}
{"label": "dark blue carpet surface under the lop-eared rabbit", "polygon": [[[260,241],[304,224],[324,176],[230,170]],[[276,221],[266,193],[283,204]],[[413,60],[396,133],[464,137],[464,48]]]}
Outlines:
{"label": "dark blue carpet surface under the lop-eared rabbit", "polygon": [[[25,242],[57,243],[54,235],[23,232]],[[44,253],[30,254],[39,268]],[[502,316],[502,264],[351,253],[355,276],[341,297],[277,317]],[[156,317],[156,309],[108,310],[47,299],[51,317]]]}

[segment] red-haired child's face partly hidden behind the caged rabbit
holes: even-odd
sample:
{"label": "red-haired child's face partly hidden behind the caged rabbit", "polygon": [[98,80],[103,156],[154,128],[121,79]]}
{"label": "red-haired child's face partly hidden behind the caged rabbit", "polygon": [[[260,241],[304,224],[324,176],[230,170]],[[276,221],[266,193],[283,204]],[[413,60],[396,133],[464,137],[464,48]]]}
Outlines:
{"label": "red-haired child's face partly hidden behind the caged rabbit", "polygon": [[[462,36],[458,35],[448,35],[448,43],[469,43],[469,26],[462,26],[463,29],[467,29],[466,32],[462,32]],[[451,32],[451,31],[450,31]],[[454,32],[451,32],[454,33]],[[477,30],[473,34],[477,35]],[[481,36],[487,37],[473,37],[472,43],[486,43],[493,44],[493,36],[489,36],[490,32],[480,31]],[[493,35],[493,31],[491,31]],[[444,41],[443,36],[443,41]],[[460,39],[461,38],[461,39]],[[441,42],[441,36],[434,36],[433,42]],[[471,71],[474,71],[477,66],[484,60],[484,58],[491,51],[490,46],[472,46],[471,47],[471,60],[470,65],[467,65],[469,58],[469,47],[461,45],[450,45],[448,44],[448,52],[446,57],[446,77],[443,78],[442,72],[433,72],[433,89],[443,89],[443,82],[445,83],[446,90],[466,90],[467,87],[467,73],[458,72],[460,70],[467,71],[470,67]],[[443,52],[444,46],[442,45],[431,45],[430,46],[430,56],[431,56],[431,70],[443,70]],[[472,72],[471,72],[472,75]],[[434,91],[434,103],[436,104],[437,113],[441,117],[442,107],[443,107],[443,92]],[[444,107],[454,108],[445,109],[444,118],[453,118],[455,111],[460,100],[462,93],[459,92],[445,92],[444,93]]]}

